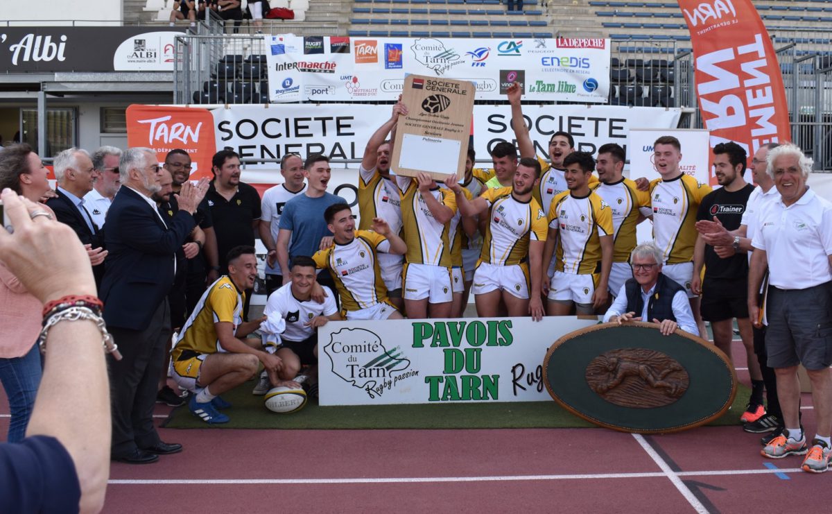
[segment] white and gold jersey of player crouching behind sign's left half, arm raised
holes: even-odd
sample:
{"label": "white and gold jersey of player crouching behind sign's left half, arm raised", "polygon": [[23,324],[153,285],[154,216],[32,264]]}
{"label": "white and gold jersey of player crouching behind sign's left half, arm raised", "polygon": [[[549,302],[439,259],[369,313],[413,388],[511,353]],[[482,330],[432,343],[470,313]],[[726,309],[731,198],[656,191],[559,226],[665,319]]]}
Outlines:
{"label": "white and gold jersey of player crouching behind sign's left half, arm raised", "polygon": [[329,268],[344,310],[366,309],[387,301],[387,288],[381,279],[378,252],[389,252],[384,235],[356,230],[346,245],[333,243],[312,256],[319,268]]}

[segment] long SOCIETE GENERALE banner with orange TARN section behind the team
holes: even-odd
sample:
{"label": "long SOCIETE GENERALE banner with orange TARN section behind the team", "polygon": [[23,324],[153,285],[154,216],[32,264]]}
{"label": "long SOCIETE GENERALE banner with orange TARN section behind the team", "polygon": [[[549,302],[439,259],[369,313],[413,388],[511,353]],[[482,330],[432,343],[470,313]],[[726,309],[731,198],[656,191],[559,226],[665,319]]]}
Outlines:
{"label": "long SOCIETE GENERALE banner with orange TARN section behind the team", "polygon": [[[191,178],[210,176],[210,158],[230,148],[244,159],[279,160],[294,152],[304,158],[315,153],[338,161],[360,161],[373,132],[390,116],[389,105],[319,104],[201,107],[132,105],[127,109],[127,142],[156,149],[159,161],[173,148],[184,148],[195,168]],[[627,106],[524,106],[537,154],[547,156],[556,131],[575,137],[578,151],[595,153],[607,142],[627,149],[632,127],[661,133],[675,129],[681,109]],[[503,141],[513,141],[510,106],[474,106],[473,142],[478,159]],[[651,141],[652,142],[652,141]],[[691,157],[693,153],[691,152]],[[356,165],[357,166],[357,165]],[[245,181],[281,182],[276,162],[245,164]]]}

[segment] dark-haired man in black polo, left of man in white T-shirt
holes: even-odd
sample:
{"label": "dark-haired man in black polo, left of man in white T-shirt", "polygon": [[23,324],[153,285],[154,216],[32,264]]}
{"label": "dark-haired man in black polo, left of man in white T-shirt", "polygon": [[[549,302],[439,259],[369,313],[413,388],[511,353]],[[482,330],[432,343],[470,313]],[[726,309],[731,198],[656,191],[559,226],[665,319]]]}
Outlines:
{"label": "dark-haired man in black polo, left of man in white T-shirt", "polygon": [[[228,274],[225,256],[235,246],[254,246],[255,230],[260,225],[260,194],[240,181],[240,156],[220,150],[211,159],[214,180],[206,193],[216,245],[220,255],[220,275]],[[243,318],[248,319],[251,291],[245,292]]]}

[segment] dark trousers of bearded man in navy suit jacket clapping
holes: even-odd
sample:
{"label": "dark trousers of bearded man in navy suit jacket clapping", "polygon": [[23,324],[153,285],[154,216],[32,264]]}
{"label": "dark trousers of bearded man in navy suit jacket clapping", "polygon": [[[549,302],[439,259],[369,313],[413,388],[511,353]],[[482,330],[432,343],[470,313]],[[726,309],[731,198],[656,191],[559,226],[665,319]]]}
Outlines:
{"label": "dark trousers of bearded man in navy suit jacket clapping", "polygon": [[112,327],[121,360],[110,364],[113,457],[129,454],[136,447],[160,442],[153,426],[153,407],[163,363],[165,345],[171,343],[171,314],[164,299],[143,330]]}

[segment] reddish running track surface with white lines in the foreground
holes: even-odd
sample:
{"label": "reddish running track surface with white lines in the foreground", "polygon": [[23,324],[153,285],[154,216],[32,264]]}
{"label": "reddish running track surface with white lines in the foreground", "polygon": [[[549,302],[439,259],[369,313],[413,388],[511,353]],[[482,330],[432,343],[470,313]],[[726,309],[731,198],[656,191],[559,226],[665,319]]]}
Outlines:
{"label": "reddish running track surface with white lines in the foreground", "polygon": [[[749,383],[739,342],[734,355]],[[170,410],[157,406],[160,423]],[[802,412],[814,431],[809,394]],[[160,433],[185,450],[112,463],[104,512],[829,512],[832,471],[760,457],[760,436],[739,426],[643,437],[603,428]]]}

